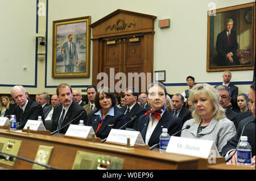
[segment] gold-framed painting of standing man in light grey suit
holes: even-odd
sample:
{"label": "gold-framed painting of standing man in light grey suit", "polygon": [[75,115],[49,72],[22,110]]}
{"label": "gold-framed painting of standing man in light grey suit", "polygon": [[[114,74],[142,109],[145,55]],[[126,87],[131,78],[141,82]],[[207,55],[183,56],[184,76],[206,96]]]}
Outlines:
{"label": "gold-framed painting of standing man in light grey suit", "polygon": [[90,77],[90,16],[53,21],[52,77]]}

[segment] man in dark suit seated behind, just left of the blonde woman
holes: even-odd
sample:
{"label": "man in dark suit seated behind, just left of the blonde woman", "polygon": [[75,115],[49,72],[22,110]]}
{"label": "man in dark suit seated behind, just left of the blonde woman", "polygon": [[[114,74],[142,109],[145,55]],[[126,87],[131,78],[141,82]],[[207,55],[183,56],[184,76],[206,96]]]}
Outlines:
{"label": "man in dark suit seated behind, just left of the blonde woman", "polygon": [[181,94],[175,94],[172,96],[172,114],[176,117],[179,117],[181,119],[182,124],[185,123],[185,121],[192,119],[191,111],[189,111],[184,104],[184,97]]}

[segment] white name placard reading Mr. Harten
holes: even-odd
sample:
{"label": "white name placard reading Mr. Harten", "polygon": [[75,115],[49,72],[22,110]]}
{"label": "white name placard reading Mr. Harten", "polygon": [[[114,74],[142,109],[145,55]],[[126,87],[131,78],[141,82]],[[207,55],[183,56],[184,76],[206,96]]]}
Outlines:
{"label": "white name placard reading Mr. Harten", "polygon": [[216,145],[211,140],[200,140],[171,136],[166,152],[208,158],[209,155],[220,157]]}

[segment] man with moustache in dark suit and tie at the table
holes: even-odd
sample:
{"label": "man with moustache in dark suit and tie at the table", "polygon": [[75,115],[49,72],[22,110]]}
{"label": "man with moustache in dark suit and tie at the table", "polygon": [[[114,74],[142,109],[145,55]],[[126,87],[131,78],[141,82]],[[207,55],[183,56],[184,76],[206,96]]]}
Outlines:
{"label": "man with moustache in dark suit and tie at the table", "polygon": [[[57,96],[60,99],[60,105],[55,107],[52,114],[51,132],[63,128],[70,121],[71,124],[79,124],[80,120],[87,121],[87,113],[79,104],[72,99],[72,88],[66,83],[57,86]],[[59,133],[66,133],[69,125],[65,126]]]}

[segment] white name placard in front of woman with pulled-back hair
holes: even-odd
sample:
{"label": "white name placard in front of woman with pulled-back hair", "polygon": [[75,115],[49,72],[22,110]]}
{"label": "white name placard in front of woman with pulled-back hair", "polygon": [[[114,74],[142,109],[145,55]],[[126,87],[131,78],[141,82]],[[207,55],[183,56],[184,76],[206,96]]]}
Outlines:
{"label": "white name placard in front of woman with pulled-back hair", "polygon": [[141,132],[128,131],[123,129],[111,129],[106,141],[127,144],[127,138],[130,138],[130,145],[145,145]]}

